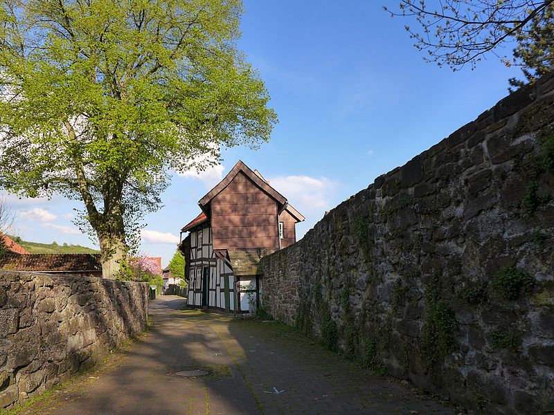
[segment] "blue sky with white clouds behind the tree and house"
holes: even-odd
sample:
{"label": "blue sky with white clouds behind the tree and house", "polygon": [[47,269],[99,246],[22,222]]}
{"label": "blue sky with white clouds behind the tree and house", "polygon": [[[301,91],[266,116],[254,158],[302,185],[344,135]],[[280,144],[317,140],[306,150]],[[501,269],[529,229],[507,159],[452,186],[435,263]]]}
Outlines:
{"label": "blue sky with white clouds behind the tree and house", "polygon": [[[146,217],[141,252],[166,266],[179,230],[199,213],[197,201],[239,159],[306,216],[301,237],[325,210],[507,95],[519,71],[492,55],[473,71],[423,62],[404,31],[413,22],[382,10],[395,3],[244,0],[240,48],[265,80],[280,122],[260,149],[224,149],[220,167],[175,176],[165,207]],[[24,239],[94,247],[71,223],[78,203],[4,199]]]}

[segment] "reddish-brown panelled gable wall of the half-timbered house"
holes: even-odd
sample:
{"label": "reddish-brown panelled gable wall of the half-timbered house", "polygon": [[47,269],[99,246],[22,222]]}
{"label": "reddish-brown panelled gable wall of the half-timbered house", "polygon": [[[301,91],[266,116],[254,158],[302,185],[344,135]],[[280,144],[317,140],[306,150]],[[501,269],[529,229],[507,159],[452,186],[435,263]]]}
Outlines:
{"label": "reddish-brown panelled gable wall of the half-timbered house", "polygon": [[279,248],[277,203],[240,172],[211,201],[214,249]]}

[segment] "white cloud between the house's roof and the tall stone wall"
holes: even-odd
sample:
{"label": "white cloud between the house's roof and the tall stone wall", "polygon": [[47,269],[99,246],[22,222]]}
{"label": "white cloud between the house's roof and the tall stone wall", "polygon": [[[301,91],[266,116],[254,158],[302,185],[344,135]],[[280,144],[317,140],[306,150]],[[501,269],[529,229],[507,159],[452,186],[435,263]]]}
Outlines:
{"label": "white cloud between the house's roof and the tall stone wall", "polygon": [[329,209],[330,198],[337,186],[328,178],[310,176],[277,176],[269,184],[301,213]]}

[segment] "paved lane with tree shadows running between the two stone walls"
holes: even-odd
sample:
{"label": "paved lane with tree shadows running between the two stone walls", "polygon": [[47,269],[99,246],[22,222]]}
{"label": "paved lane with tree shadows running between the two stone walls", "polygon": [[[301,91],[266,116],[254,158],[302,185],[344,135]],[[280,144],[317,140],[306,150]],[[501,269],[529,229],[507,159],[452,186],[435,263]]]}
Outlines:
{"label": "paved lane with tree shadows running between the two stone walls", "polygon": [[[283,324],[150,304],[152,329],[26,414],[448,414],[409,387],[359,369]],[[211,376],[168,376],[182,369]],[[278,393],[276,393],[278,392]]]}

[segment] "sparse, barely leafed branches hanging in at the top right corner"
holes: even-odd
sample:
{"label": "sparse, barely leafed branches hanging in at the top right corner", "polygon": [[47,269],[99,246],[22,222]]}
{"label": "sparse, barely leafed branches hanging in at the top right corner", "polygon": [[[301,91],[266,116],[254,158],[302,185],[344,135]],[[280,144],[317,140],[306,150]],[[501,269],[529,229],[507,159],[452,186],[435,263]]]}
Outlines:
{"label": "sparse, barely leafed branches hanging in at the top right corner", "polygon": [[[528,81],[554,66],[554,0],[401,0],[397,10],[386,10],[415,19],[406,30],[439,66],[474,66],[492,53],[521,66]],[[499,48],[510,42],[517,44],[512,57]]]}

